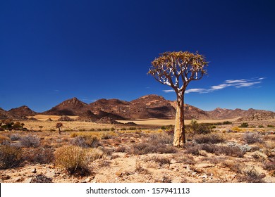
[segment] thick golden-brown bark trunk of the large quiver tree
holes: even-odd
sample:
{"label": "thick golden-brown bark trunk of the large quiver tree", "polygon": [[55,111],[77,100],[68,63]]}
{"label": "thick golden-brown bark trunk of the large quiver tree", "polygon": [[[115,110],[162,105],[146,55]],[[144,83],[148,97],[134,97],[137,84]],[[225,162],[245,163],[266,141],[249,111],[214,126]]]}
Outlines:
{"label": "thick golden-brown bark trunk of the large quiver tree", "polygon": [[178,96],[176,108],[176,122],[173,134],[173,146],[182,147],[185,144],[185,125],[184,125],[184,98]]}

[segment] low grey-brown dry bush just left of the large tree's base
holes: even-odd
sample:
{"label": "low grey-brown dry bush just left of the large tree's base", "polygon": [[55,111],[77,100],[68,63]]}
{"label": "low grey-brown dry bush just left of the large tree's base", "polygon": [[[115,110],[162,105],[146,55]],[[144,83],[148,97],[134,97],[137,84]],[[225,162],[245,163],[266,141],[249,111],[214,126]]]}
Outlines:
{"label": "low grey-brown dry bush just left of the large tree's base", "polygon": [[133,144],[126,151],[133,155],[145,155],[148,153],[176,153],[177,149],[173,146],[166,146],[165,144],[140,143]]}

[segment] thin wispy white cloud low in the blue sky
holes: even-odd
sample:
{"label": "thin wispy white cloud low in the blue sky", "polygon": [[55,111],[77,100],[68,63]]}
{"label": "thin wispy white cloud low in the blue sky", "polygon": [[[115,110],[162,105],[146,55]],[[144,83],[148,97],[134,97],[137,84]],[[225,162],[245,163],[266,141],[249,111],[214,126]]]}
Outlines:
{"label": "thin wispy white cloud low in the blue sky", "polygon": [[[241,87],[253,87],[255,84],[260,84],[262,83],[262,80],[264,80],[265,77],[256,77],[250,80],[225,80],[223,84],[215,85],[210,87],[209,89],[204,89],[204,88],[195,88],[195,89],[188,89],[185,91],[186,94],[188,93],[209,93],[212,91],[217,91],[221,89],[225,89],[227,87],[236,87],[236,88],[241,88]],[[166,89],[164,92],[168,93],[173,91],[172,89]]]}

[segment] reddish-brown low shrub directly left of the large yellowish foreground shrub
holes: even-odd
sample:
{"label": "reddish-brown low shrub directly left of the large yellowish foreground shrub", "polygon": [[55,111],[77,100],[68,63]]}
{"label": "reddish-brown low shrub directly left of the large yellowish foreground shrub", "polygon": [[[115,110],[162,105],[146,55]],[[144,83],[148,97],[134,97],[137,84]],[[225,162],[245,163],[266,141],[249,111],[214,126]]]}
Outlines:
{"label": "reddish-brown low shrub directly left of the large yellowish foreground shrub", "polygon": [[53,148],[32,148],[25,151],[24,159],[30,163],[51,163],[54,161],[54,149]]}

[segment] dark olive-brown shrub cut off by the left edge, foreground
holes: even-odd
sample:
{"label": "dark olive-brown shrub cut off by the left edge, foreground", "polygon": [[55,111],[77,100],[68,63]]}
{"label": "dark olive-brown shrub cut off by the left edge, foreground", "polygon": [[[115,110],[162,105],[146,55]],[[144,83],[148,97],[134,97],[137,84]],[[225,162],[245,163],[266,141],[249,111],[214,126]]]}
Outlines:
{"label": "dark olive-brown shrub cut off by the left edge, foreground", "polygon": [[23,151],[20,147],[0,146],[0,169],[17,167],[23,162]]}

